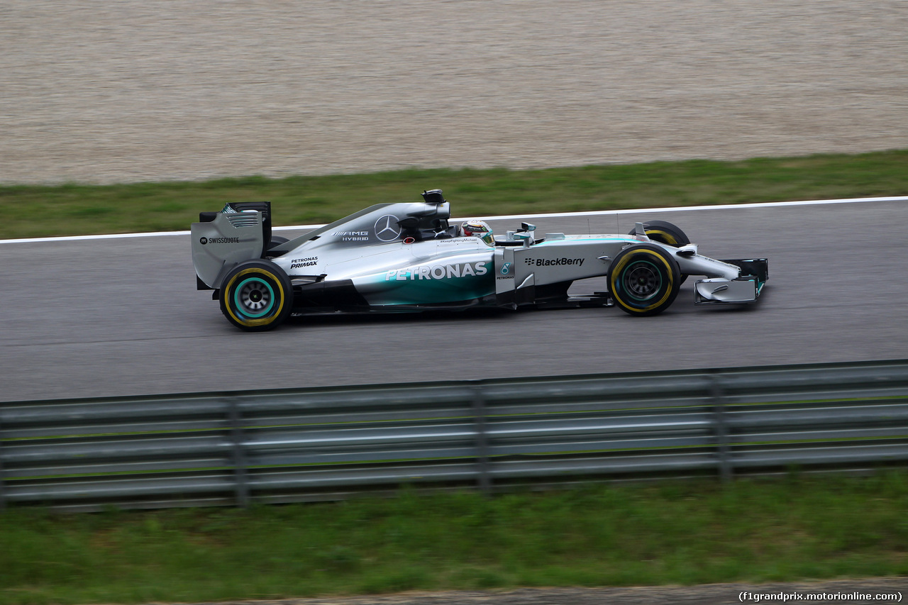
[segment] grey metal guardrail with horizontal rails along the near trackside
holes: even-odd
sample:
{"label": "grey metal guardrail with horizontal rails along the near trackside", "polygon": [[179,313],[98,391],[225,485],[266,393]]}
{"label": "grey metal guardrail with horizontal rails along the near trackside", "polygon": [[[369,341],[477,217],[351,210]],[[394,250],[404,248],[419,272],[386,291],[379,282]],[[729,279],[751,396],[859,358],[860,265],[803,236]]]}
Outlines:
{"label": "grey metal guardrail with horizontal rails along the near trackside", "polygon": [[0,506],[866,471],[908,461],[908,360],[0,404]]}

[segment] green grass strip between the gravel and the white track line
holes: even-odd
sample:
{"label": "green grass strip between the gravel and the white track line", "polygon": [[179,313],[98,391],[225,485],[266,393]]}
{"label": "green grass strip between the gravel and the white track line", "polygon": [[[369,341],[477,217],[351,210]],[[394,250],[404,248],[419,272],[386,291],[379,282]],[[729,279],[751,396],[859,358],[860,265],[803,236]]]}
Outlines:
{"label": "green grass strip between the gravel and the white track line", "polygon": [[908,150],[547,170],[404,170],[190,183],[0,185],[0,239],[182,231],[225,202],[271,200],[275,224],[327,223],[440,187],[457,217],[908,194]]}

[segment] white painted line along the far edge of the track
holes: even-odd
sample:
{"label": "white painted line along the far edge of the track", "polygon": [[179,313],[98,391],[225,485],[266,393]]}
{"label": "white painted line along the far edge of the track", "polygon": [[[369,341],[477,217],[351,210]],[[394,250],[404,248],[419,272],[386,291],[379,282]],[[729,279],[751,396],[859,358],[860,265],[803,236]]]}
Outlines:
{"label": "white painted line along the far edge of the track", "polygon": [[[630,208],[626,210],[591,210],[579,213],[538,213],[538,214],[505,214],[499,216],[479,216],[483,221],[505,221],[509,219],[548,218],[559,216],[607,216],[609,214],[639,214],[639,213],[680,213],[694,210],[731,210],[733,208],[774,208],[781,206],[811,206],[833,203],[864,203],[864,202],[908,202],[908,195],[892,197],[855,197],[840,200],[805,200],[803,202],[758,202],[758,203],[726,203],[721,205],[706,206],[676,206],[672,208]],[[458,219],[459,220],[459,219]],[[300,231],[304,229],[318,229],[322,224],[301,224],[290,227],[273,227],[271,231]],[[130,237],[157,237],[161,235],[189,235],[188,231],[159,231],[153,233],[108,233],[104,235],[65,235],[63,237],[33,237],[17,240],[0,240],[0,243],[39,243],[39,242],[78,242],[81,240],[112,240]]]}

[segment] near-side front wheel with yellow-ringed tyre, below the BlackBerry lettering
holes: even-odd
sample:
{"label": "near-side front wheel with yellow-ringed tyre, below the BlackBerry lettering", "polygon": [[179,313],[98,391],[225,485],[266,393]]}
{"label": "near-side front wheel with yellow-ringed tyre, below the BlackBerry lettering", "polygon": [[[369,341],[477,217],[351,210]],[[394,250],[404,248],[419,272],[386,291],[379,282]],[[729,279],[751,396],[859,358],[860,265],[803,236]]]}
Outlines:
{"label": "near-side front wheel with yellow-ringed tyre, below the BlackBerry lettering", "polygon": [[652,243],[638,243],[617,253],[608,269],[608,291],[631,315],[656,315],[675,302],[681,286],[678,263]]}

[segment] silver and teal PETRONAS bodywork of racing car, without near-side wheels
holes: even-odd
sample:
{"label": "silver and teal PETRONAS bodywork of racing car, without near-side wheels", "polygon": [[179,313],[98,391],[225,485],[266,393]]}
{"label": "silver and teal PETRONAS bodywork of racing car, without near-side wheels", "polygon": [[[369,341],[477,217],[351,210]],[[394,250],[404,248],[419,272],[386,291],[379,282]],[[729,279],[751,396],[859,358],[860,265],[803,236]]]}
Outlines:
{"label": "silver and teal PETRONAS bodywork of racing car, without near-side wheels", "polygon": [[[617,254],[639,243],[663,249],[680,273],[703,276],[694,285],[697,303],[755,302],[767,278],[765,259],[712,259],[696,244],[650,239],[642,223],[629,235],[547,233],[538,240],[525,224],[491,246],[449,227],[447,202],[383,203],[269,249],[268,212],[228,204],[213,220],[192,223],[200,289],[218,290],[238,263],[263,258],[289,276],[294,312],[608,304],[607,293],[568,297],[568,285],[607,275]],[[745,272],[754,263],[762,274]]]}

